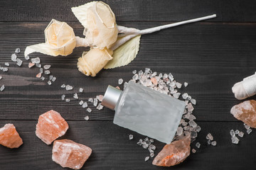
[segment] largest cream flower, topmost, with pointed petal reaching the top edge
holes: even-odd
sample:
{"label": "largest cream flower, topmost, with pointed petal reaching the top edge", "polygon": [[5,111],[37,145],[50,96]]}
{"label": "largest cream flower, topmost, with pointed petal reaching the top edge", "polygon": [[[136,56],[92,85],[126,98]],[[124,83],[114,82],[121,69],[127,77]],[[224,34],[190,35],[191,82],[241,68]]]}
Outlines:
{"label": "largest cream flower, topmost, with pointed petal reaching the top edge", "polygon": [[92,1],[73,7],[72,11],[85,27],[85,40],[90,47],[110,48],[116,42],[118,29],[110,6],[102,1]]}

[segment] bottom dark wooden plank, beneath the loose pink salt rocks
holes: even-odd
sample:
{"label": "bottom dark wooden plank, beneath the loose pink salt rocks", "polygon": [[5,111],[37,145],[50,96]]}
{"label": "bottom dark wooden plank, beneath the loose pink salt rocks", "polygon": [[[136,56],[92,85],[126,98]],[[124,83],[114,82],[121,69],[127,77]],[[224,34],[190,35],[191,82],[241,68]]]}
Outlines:
{"label": "bottom dark wooden plank, beneath the loose pink salt rocks", "polygon": [[[9,149],[0,146],[1,169],[61,169],[51,160],[52,145],[46,145],[35,135],[36,121],[0,121],[0,127],[5,123],[14,123],[23,139],[23,145],[18,149]],[[149,151],[137,145],[144,136],[130,130],[120,128],[108,121],[68,121],[70,129],[61,139],[70,139],[92,148],[92,155],[82,169],[159,169],[144,157]],[[201,122],[202,131],[191,144],[201,143],[201,148],[192,154],[182,164],[174,169],[252,169],[255,167],[255,139],[256,133],[252,130],[250,135],[240,138],[240,143],[231,143],[229,131],[238,129],[245,132],[239,122]],[[208,146],[206,135],[210,132],[217,146]],[[134,140],[129,140],[129,134]],[[164,143],[155,141],[156,154],[164,147]],[[28,168],[29,167],[29,168]]]}

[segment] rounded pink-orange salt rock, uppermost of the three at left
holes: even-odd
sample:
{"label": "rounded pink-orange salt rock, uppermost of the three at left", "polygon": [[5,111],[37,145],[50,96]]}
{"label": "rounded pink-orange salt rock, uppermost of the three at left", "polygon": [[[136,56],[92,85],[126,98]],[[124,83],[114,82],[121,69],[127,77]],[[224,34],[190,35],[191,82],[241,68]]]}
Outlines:
{"label": "rounded pink-orange salt rock, uppermost of the three at left", "polygon": [[53,140],[64,135],[67,130],[68,123],[65,119],[61,117],[60,113],[51,110],[39,116],[36,136],[50,145]]}

